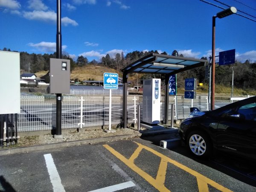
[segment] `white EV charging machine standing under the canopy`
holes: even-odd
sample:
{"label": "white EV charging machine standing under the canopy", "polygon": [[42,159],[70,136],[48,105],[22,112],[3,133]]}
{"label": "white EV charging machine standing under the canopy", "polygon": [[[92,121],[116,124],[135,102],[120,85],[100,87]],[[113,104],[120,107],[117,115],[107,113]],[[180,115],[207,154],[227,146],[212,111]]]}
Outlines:
{"label": "white EV charging machine standing under the canopy", "polygon": [[160,123],[161,79],[143,80],[143,122],[150,125]]}

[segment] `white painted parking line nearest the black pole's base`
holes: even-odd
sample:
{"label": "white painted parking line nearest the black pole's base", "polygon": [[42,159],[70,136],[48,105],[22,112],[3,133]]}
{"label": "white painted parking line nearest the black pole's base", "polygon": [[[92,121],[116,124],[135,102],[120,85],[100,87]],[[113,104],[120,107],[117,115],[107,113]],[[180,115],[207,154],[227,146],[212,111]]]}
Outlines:
{"label": "white painted parking line nearest the black pole's base", "polygon": [[53,162],[52,155],[51,154],[44,154],[45,163],[48,169],[48,173],[50,176],[50,180],[53,186],[54,192],[65,192],[64,187],[61,184],[61,178],[58,175],[58,171],[56,169],[56,166]]}

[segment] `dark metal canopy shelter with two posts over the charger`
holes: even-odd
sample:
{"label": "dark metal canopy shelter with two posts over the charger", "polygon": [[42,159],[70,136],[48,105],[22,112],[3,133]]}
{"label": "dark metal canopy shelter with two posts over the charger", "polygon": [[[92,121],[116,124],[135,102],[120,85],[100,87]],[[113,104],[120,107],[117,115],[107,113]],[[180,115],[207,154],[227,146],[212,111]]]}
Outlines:
{"label": "dark metal canopy shelter with two posts over the charger", "polygon": [[164,123],[168,122],[168,108],[169,108],[169,96],[168,96],[168,83],[169,76],[180,73],[182,71],[191,70],[196,67],[201,67],[206,64],[207,60],[176,57],[171,55],[161,55],[151,53],[137,61],[131,63],[124,69],[123,72],[123,114],[122,114],[122,126],[127,127],[127,79],[129,73],[151,73],[161,74],[165,76],[165,118]]}

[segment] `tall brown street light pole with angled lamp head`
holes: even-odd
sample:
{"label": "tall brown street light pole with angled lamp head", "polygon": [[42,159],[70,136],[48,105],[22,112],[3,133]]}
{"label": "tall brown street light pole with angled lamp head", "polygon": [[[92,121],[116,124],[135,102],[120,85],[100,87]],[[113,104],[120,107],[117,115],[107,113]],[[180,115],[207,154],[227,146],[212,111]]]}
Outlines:
{"label": "tall brown street light pole with angled lamp head", "polygon": [[223,10],[222,12],[218,12],[216,16],[212,17],[212,82],[211,82],[211,110],[214,110],[215,104],[215,19],[227,17],[236,13],[235,7],[230,7],[228,9]]}

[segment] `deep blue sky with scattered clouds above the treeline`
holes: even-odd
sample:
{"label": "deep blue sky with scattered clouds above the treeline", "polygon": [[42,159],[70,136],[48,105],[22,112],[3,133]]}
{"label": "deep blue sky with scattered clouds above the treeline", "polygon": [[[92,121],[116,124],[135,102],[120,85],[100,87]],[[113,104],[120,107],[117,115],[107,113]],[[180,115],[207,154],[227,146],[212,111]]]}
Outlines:
{"label": "deep blue sky with scattered clouds above the treeline", "polygon": [[[215,0],[210,3],[227,8]],[[256,20],[256,0],[219,0]],[[212,16],[222,9],[200,0],[62,0],[62,48],[89,61],[117,52],[158,50],[186,57],[211,55]],[[56,0],[0,0],[0,49],[56,50]],[[216,55],[236,49],[256,61],[256,22],[238,15],[216,18]]]}

